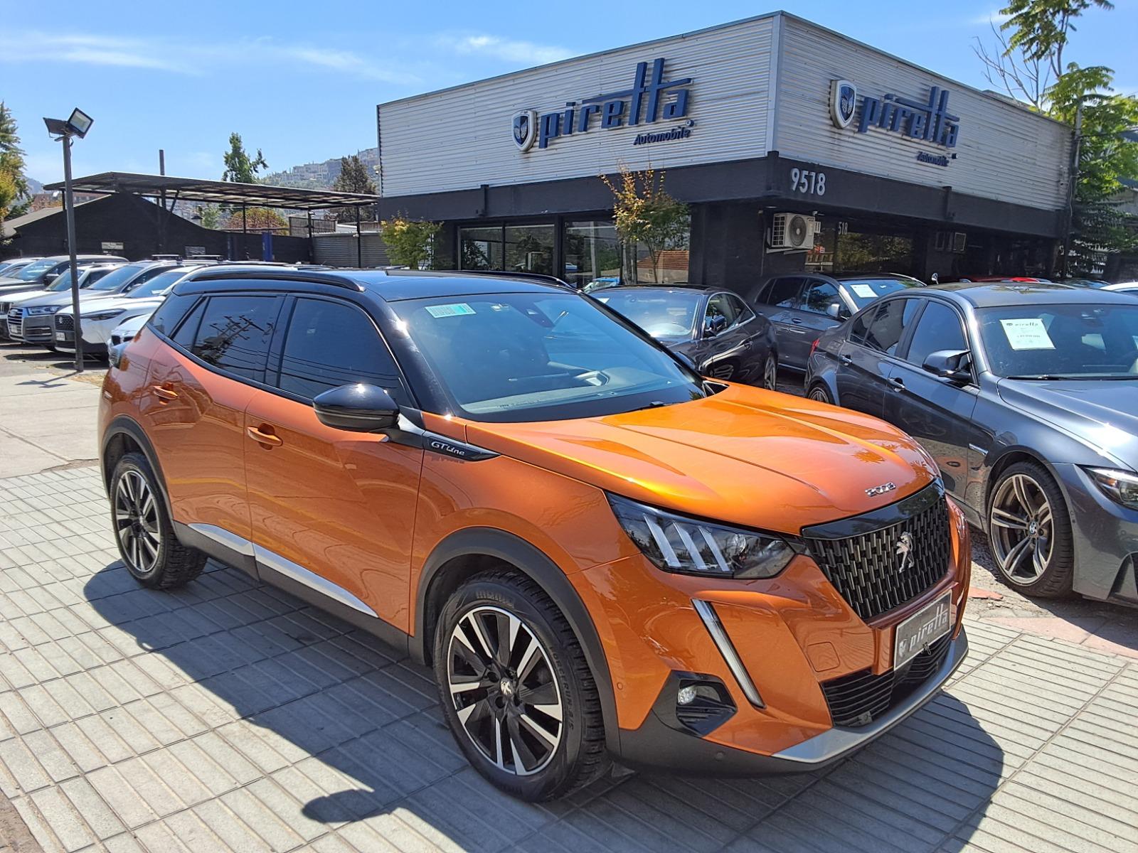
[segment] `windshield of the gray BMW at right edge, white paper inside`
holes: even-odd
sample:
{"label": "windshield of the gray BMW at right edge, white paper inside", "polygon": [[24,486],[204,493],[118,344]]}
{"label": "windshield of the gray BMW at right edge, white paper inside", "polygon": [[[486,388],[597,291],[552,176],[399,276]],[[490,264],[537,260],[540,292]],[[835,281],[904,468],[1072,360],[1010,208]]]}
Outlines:
{"label": "windshield of the gray BMW at right edge, white paper inside", "polygon": [[1138,305],[1024,305],[976,312],[992,373],[1138,379]]}

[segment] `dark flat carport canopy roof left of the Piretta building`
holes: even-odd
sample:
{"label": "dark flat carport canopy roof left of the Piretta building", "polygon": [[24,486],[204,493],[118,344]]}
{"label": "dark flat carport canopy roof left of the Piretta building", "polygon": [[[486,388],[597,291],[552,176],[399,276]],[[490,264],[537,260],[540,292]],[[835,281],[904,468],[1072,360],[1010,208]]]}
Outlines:
{"label": "dark flat carport canopy roof left of the Piretta building", "polygon": [[[46,185],[61,190],[63,182]],[[140,175],[131,172],[101,172],[72,181],[75,192],[127,192],[135,196],[176,198],[180,201],[212,201],[247,207],[283,207],[294,210],[322,210],[330,207],[363,207],[379,202],[379,196],[336,190],[305,190],[259,183],[203,181],[171,175]]]}

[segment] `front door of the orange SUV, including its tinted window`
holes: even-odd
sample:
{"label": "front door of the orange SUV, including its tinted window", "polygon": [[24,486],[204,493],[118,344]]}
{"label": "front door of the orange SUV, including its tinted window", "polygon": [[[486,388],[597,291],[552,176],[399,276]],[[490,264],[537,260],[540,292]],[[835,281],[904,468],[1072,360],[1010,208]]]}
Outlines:
{"label": "front door of the orange SUV, including its tinted window", "polygon": [[[371,317],[298,297],[286,307],[279,368],[245,413],[245,469],[258,562],[327,598],[406,630],[423,452],[382,434],[325,426],[322,391],[355,382],[406,403]],[[277,358],[273,359],[277,362]]]}

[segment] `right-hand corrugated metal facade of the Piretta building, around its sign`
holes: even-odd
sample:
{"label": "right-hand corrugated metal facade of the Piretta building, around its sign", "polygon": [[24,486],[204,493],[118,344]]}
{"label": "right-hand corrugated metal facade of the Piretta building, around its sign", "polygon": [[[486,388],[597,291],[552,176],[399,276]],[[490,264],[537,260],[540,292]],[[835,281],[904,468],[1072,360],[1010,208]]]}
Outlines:
{"label": "right-hand corrugated metal facade of the Piretta building, around its sign", "polygon": [[[857,118],[840,130],[830,117],[833,80],[850,81],[860,96],[922,102],[930,86],[947,89],[959,142],[945,149],[876,127],[858,133]],[[1070,129],[799,18],[783,22],[777,91],[774,149],[785,157],[1031,207],[1059,208],[1066,198]],[[921,151],[956,159],[925,164]]]}

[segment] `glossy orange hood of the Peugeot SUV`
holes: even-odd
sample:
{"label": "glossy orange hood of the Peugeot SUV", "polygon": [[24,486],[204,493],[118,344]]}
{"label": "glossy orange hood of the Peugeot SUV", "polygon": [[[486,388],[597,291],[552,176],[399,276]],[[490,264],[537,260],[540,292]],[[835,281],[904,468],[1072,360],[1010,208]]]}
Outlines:
{"label": "glossy orange hood of the Peugeot SUV", "polygon": [[602,417],[465,425],[476,445],[618,495],[794,535],[937,477],[913,439],[876,417],[749,386]]}

